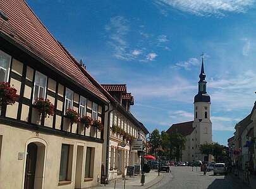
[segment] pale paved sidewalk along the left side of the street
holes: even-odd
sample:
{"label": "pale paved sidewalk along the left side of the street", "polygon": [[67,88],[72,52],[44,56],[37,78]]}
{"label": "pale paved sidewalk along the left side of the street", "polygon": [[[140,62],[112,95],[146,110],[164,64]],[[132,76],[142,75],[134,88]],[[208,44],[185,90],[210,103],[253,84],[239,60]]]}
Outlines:
{"label": "pale paved sidewalk along the left side of the street", "polygon": [[[145,173],[145,183],[144,186],[140,183],[140,175],[138,176],[126,176],[126,180],[119,179],[116,180],[116,189],[123,189],[124,185],[126,189],[146,189],[150,188],[151,186],[154,186],[155,184],[159,183],[159,181],[162,180],[163,173],[160,173],[160,176],[158,176],[158,172],[155,170],[150,171],[150,173]],[[114,180],[111,180],[109,182],[109,185],[101,185],[94,187],[96,189],[113,189],[114,188]]]}

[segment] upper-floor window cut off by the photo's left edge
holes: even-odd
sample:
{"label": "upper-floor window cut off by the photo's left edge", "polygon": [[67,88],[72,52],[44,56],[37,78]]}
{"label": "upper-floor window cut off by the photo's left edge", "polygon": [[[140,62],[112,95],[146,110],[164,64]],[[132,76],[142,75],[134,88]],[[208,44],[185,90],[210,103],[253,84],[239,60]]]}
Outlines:
{"label": "upper-floor window cut off by the photo's left edge", "polygon": [[11,56],[0,50],[0,82],[7,82]]}

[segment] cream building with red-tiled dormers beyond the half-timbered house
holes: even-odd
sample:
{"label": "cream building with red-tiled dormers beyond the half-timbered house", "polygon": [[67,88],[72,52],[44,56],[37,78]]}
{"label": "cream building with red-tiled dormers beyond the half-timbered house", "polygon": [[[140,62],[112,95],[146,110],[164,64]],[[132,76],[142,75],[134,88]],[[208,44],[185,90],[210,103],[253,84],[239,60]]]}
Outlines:
{"label": "cream building with red-tiled dormers beyond the half-timbered house", "polygon": [[126,84],[102,84],[102,86],[114,99],[105,113],[109,125],[104,130],[102,151],[107,180],[113,180],[125,176],[127,166],[140,164],[137,151],[131,151],[131,140],[127,140],[127,135],[130,135],[132,140],[141,139],[145,142],[149,132],[130,112],[134,100],[131,93],[126,92]]}

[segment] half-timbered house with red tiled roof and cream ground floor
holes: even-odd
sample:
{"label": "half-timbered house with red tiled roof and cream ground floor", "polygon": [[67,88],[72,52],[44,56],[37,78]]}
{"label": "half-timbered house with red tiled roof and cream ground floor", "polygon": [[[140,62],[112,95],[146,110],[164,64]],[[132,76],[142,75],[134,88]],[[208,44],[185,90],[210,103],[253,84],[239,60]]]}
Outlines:
{"label": "half-timbered house with red tiled roof and cream ground floor", "polygon": [[[109,101],[25,1],[0,1],[0,9],[0,81],[19,95],[1,106],[0,188],[97,185],[103,133],[71,124],[66,110],[104,124]],[[54,115],[40,116],[38,98],[54,105]]]}

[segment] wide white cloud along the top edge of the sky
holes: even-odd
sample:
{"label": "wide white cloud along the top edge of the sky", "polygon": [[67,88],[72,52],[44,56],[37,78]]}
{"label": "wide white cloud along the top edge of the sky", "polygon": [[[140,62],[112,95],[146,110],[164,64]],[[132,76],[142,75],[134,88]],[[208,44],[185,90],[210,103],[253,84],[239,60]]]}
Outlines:
{"label": "wide white cloud along the top edge of the sky", "polygon": [[155,3],[198,16],[224,16],[229,12],[244,13],[255,0],[155,0]]}

